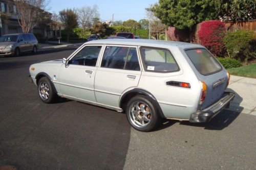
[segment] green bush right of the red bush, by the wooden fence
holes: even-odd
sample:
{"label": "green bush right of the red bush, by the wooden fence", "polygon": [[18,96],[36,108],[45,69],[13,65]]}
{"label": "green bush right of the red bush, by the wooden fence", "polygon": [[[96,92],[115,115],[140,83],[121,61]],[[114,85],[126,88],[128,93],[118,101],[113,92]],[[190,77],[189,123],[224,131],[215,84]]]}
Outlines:
{"label": "green bush right of the red bush, by the wooden fence", "polygon": [[244,30],[227,32],[223,42],[225,44],[228,56],[230,58],[236,58],[242,61],[255,59],[256,51],[253,34],[253,31]]}

